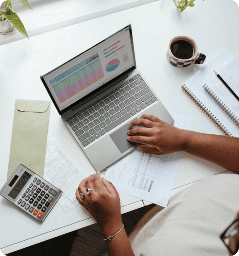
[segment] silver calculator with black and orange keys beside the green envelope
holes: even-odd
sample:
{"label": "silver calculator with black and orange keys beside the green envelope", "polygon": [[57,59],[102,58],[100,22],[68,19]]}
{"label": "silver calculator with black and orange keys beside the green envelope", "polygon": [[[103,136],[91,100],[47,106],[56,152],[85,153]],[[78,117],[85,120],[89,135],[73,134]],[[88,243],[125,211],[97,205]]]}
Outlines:
{"label": "silver calculator with black and orange keys beside the green envelope", "polygon": [[46,219],[61,194],[62,191],[22,164],[0,190],[1,196],[40,222]]}

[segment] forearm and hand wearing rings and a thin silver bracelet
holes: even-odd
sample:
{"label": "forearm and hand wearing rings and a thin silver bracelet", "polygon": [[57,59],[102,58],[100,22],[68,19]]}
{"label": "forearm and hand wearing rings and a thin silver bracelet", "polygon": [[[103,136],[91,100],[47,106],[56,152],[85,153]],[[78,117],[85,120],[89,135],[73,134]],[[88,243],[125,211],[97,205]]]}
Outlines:
{"label": "forearm and hand wearing rings and a thin silver bracelet", "polygon": [[[86,188],[94,190],[82,199],[80,193],[84,193]],[[119,194],[110,181],[104,178],[100,180],[100,173],[82,180],[76,190],[76,198],[102,227],[105,239],[121,230],[123,223]],[[124,228],[110,241],[107,240],[107,245],[110,256],[134,256]]]}

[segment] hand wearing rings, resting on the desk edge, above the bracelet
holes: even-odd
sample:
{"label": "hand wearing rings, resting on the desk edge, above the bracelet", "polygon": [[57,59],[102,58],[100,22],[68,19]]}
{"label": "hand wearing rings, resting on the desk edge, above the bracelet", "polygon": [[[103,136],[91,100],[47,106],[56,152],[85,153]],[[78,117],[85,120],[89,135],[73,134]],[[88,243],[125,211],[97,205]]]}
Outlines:
{"label": "hand wearing rings, resting on the desk edge, above the bracelet", "polygon": [[[85,193],[87,188],[94,190],[89,196],[84,194],[82,199],[80,193]],[[106,226],[122,227],[119,194],[110,181],[100,180],[100,173],[82,180],[76,190],[76,198],[103,229]]]}

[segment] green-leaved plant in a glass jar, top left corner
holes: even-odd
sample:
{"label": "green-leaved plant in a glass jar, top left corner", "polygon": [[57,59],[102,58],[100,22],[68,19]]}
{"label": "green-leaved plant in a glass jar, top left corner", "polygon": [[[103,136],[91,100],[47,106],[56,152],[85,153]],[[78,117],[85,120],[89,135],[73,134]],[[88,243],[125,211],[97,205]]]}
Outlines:
{"label": "green-leaved plant in a glass jar, top left corner", "polygon": [[[18,0],[23,3],[25,6],[32,9],[29,2],[27,0]],[[0,6],[0,36],[8,36],[12,34],[15,28],[23,34],[23,36],[27,36],[27,31],[20,18],[17,16],[15,12],[13,12],[12,1],[6,0]]]}

